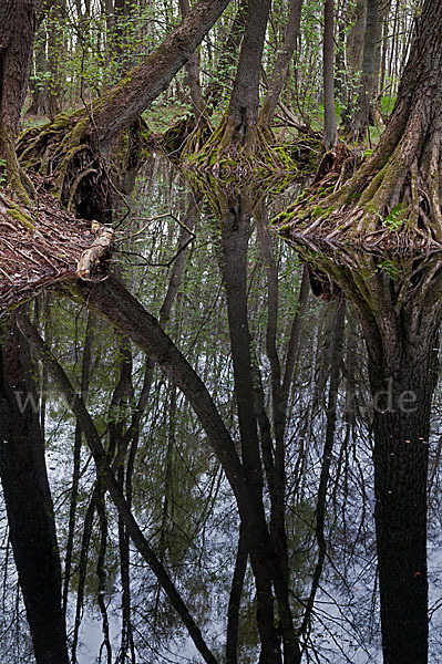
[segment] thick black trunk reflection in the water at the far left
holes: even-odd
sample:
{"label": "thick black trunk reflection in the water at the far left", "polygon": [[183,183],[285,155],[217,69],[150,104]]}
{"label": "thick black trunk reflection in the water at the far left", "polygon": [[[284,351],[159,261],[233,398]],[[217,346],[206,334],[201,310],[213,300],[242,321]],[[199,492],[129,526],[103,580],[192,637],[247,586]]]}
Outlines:
{"label": "thick black trunk reflection in the water at the far left", "polygon": [[68,664],[61,564],[28,342],[0,349],[0,476],[37,664]]}

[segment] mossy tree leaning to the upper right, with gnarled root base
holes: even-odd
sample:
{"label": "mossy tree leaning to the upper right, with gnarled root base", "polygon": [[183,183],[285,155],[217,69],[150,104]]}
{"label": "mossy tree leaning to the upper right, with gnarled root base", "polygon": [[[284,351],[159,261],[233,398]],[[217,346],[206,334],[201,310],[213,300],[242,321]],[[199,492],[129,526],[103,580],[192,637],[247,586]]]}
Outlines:
{"label": "mossy tree leaning to the upper right, with gnarled root base", "polygon": [[199,0],[174,32],[88,112],[58,116],[53,125],[27,133],[18,146],[22,163],[39,170],[44,160],[58,174],[55,186],[64,204],[78,207],[82,200],[92,201],[89,218],[107,220],[114,189],[103,159],[109,160],[120,134],[166,90],[228,2]]}

